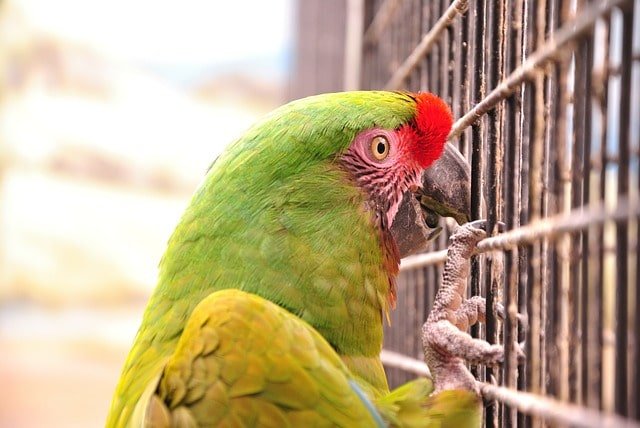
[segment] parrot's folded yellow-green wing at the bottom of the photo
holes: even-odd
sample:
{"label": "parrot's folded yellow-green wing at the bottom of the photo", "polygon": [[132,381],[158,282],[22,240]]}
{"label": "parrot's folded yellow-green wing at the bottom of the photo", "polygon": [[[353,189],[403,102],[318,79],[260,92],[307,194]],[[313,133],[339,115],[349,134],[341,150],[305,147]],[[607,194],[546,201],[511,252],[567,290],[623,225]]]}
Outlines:
{"label": "parrot's folded yellow-green wing at the bottom of the photo", "polygon": [[138,408],[146,426],[376,426],[354,386],[307,323],[261,297],[225,290],[196,307]]}

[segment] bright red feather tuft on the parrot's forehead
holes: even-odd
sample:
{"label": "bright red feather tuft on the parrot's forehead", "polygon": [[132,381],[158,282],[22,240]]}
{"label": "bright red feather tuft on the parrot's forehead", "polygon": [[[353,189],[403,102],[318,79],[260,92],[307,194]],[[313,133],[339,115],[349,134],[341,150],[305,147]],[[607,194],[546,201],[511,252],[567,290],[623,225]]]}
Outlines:
{"label": "bright red feather tuft on the parrot's forehead", "polygon": [[449,106],[433,94],[422,92],[414,98],[414,121],[403,126],[399,133],[416,163],[420,168],[427,168],[442,154],[453,125],[453,116]]}

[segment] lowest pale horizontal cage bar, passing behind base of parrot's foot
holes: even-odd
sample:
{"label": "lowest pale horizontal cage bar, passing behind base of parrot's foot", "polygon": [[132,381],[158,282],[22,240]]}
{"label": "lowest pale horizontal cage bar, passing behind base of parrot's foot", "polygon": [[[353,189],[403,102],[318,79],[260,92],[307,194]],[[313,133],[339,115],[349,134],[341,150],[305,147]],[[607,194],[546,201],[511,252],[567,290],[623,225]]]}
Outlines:
{"label": "lowest pale horizontal cage bar, passing behind base of parrot's foot", "polygon": [[[383,349],[382,363],[387,367],[406,370],[418,376],[431,377],[429,367],[415,358]],[[497,400],[512,406],[522,413],[541,417],[562,425],[580,427],[625,427],[640,428],[640,423],[614,414],[601,413],[587,407],[563,403],[538,394],[477,382],[480,394],[485,400]]]}

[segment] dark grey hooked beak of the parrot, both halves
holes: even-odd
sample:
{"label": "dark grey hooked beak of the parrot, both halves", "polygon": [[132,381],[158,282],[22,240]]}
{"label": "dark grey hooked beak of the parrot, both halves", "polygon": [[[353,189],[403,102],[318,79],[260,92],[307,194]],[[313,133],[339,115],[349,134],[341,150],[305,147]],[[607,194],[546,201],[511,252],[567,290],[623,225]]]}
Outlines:
{"label": "dark grey hooked beak of the parrot, both halves", "polygon": [[471,217],[471,171],[460,152],[447,143],[440,159],[422,173],[422,188],[407,191],[391,225],[400,256],[426,249],[438,236],[440,217],[458,224]]}

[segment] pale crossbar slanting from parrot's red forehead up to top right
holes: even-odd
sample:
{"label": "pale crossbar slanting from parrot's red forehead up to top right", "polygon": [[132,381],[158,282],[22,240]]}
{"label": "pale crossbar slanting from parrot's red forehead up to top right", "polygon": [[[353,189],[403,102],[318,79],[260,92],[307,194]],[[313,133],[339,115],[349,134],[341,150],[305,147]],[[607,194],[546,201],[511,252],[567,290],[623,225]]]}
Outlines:
{"label": "pale crossbar slanting from parrot's red forehead up to top right", "polygon": [[[591,6],[585,8],[576,19],[565,23],[560,29],[553,33],[550,40],[547,40],[544,45],[533,52],[521,66],[516,68],[485,98],[453,124],[451,133],[449,134],[449,140],[455,140],[467,127],[471,126],[476,120],[493,109],[500,101],[509,97],[523,82],[532,79],[535,76],[536,70],[555,59],[557,54],[569,43],[579,39],[583,34],[591,30],[598,18],[611,12],[614,7],[620,7],[630,1],[631,0],[605,0],[593,2]],[[400,71],[400,69],[398,71]]]}

